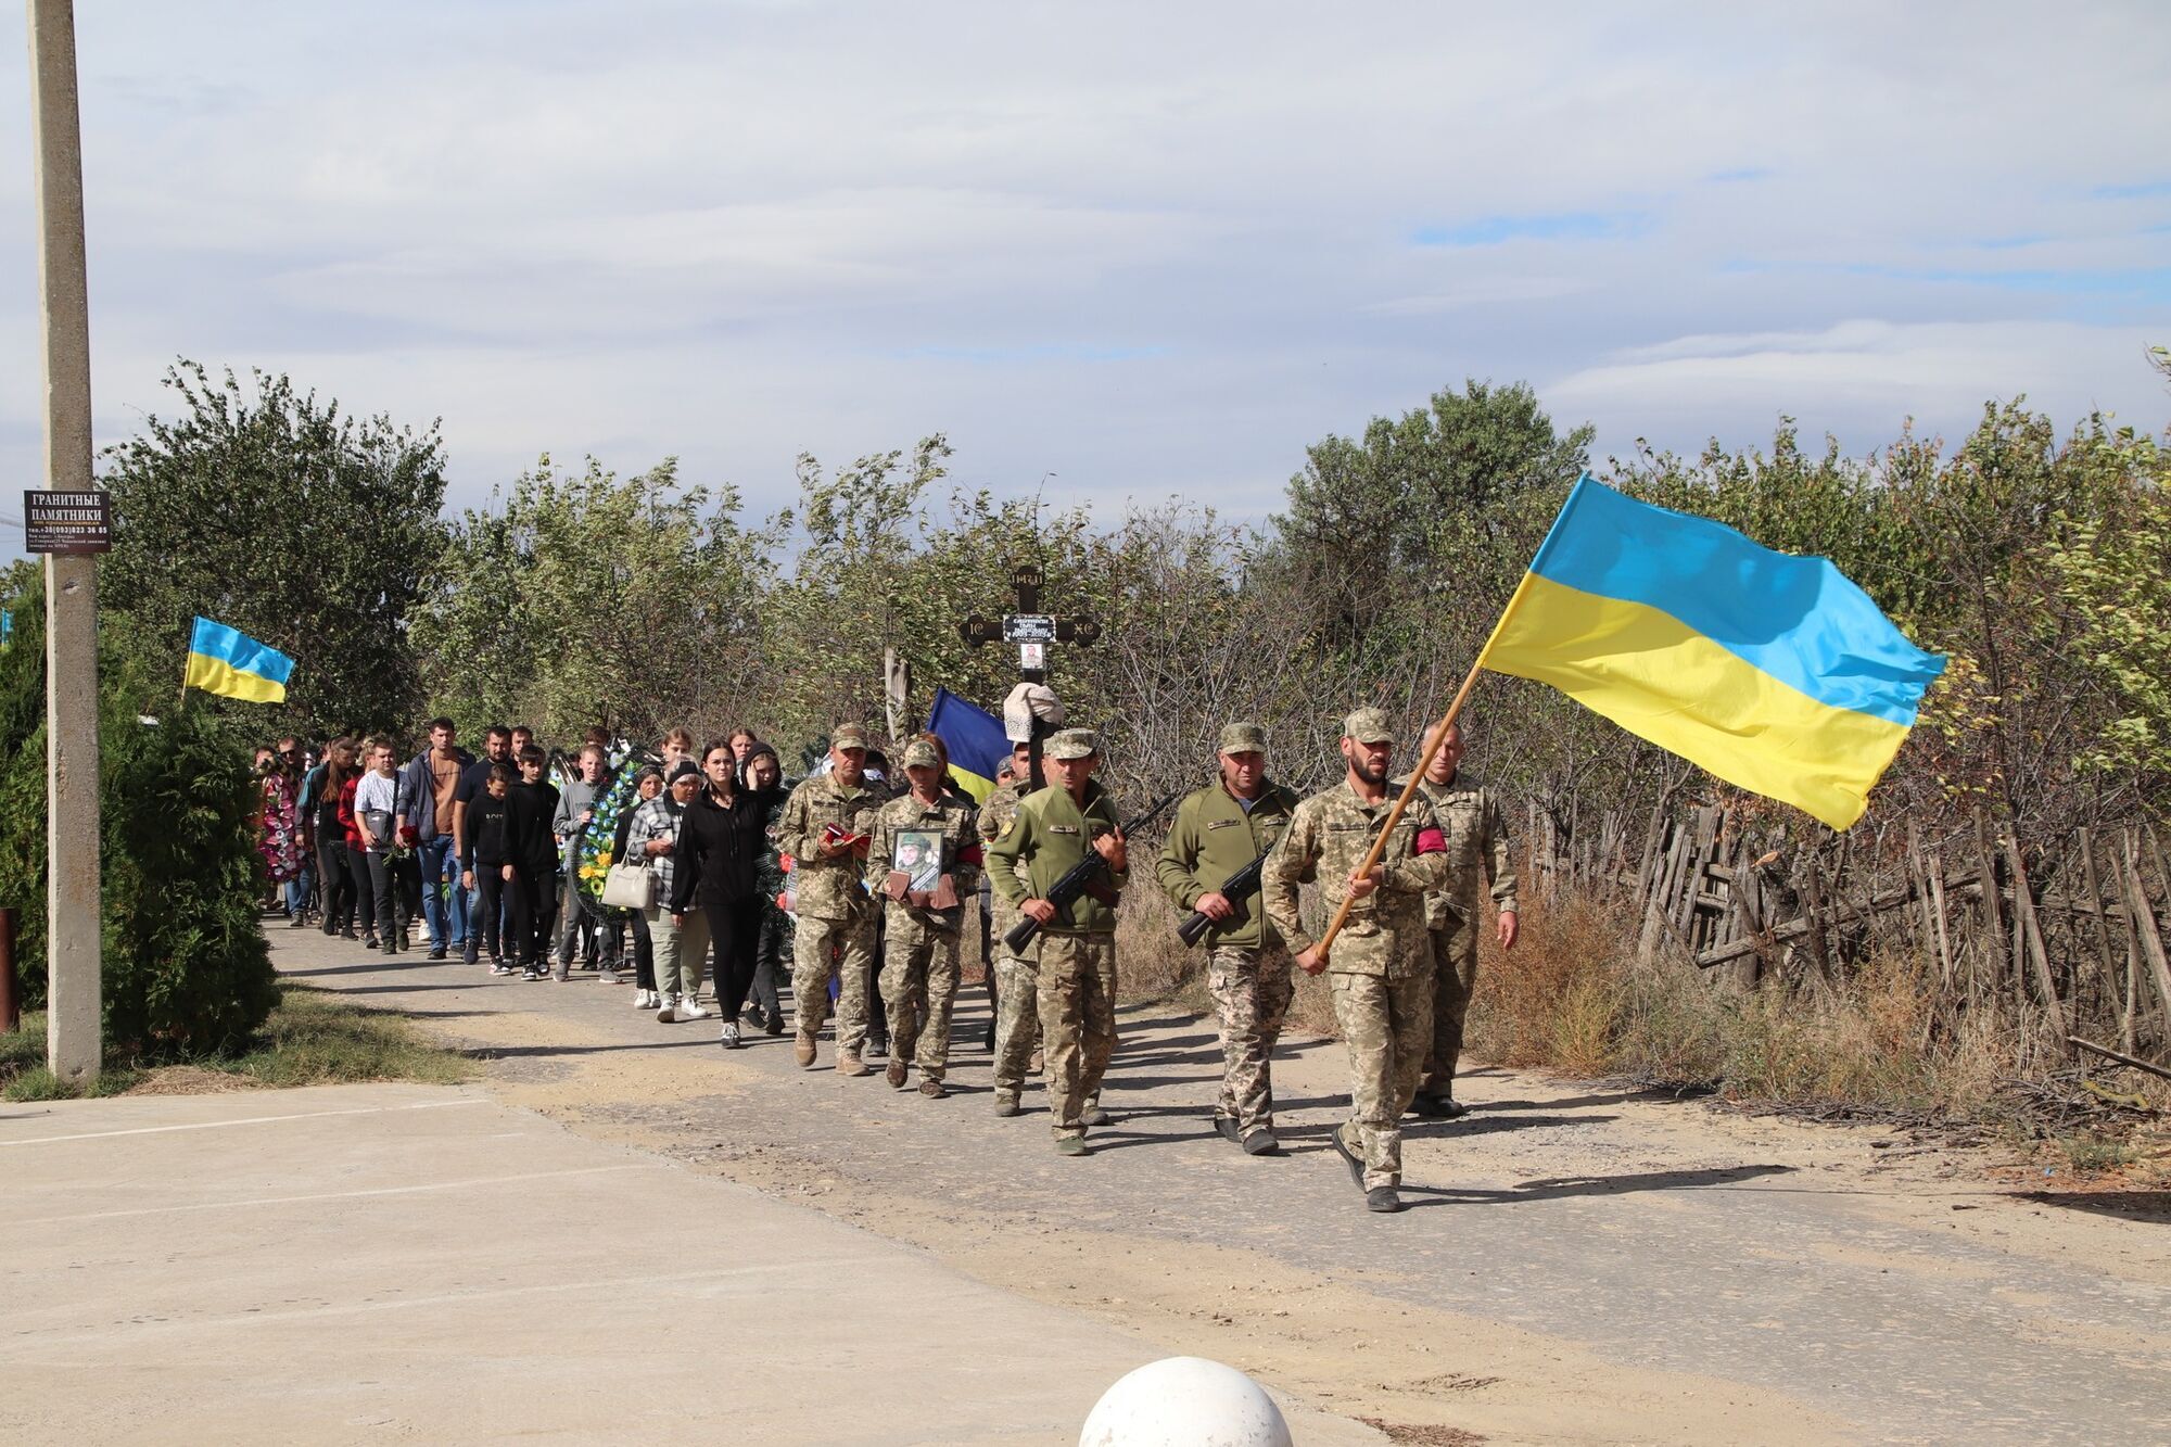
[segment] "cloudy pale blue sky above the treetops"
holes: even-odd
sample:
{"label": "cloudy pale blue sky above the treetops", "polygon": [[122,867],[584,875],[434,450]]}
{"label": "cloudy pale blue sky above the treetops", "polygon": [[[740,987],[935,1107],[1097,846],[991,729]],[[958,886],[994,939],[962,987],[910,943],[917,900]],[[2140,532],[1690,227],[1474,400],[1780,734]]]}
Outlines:
{"label": "cloudy pale blue sky above the treetops", "polygon": [[443,417],[454,504],[593,452],[769,511],[944,430],[970,487],[1264,517],[1465,376],[1600,456],[2171,419],[2162,4],[78,9],[102,441],[187,354]]}

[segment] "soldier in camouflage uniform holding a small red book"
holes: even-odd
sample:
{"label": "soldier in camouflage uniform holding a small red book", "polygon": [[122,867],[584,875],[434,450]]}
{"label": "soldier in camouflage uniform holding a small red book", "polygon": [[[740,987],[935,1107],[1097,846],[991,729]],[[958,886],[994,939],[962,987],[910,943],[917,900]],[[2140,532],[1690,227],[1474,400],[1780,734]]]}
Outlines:
{"label": "soldier in camouflage uniform holding a small red book", "polygon": [[881,795],[866,787],[866,730],[838,724],[829,730],[829,771],[797,789],[777,821],[777,847],[792,856],[792,1004],[799,1010],[795,1056],[814,1065],[814,1036],[829,1010],[829,956],[836,949],[836,1069],[864,1075],[866,989],[875,967],[875,899],[860,882],[873,847]]}

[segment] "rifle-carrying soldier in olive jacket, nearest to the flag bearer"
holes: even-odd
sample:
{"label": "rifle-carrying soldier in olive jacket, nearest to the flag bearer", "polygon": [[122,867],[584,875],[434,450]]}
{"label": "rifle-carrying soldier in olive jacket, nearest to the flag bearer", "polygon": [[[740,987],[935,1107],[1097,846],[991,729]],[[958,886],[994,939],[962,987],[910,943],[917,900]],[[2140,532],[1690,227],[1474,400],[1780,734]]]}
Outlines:
{"label": "rifle-carrying soldier in olive jacket, nearest to the flag bearer", "polygon": [[1281,841],[1296,793],[1266,778],[1266,730],[1231,724],[1220,732],[1220,780],[1188,795],[1161,843],[1155,876],[1183,913],[1214,921],[1207,991],[1220,1015],[1222,1089],[1214,1128],[1250,1156],[1274,1156],[1274,1041],[1290,1012],[1290,952],[1266,923],[1257,899],[1229,899],[1220,886]]}

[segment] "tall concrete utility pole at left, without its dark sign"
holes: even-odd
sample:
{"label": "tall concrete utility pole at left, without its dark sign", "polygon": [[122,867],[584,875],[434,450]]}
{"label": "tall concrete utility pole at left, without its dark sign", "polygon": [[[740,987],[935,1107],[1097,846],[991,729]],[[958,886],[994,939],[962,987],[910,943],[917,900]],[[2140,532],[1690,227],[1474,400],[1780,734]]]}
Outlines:
{"label": "tall concrete utility pole at left, without its dark sign", "polygon": [[[30,0],[46,489],[91,491],[91,300],[72,0]],[[98,556],[46,554],[46,1062],[87,1084],[104,1056],[98,941]]]}

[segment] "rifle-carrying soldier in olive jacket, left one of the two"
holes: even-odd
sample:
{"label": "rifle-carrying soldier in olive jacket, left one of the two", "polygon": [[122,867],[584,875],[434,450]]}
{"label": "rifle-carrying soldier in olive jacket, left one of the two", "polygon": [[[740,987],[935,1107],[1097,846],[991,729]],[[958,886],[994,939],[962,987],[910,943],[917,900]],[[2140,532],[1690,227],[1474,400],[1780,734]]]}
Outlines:
{"label": "rifle-carrying soldier in olive jacket, left one of the two", "polygon": [[[1055,1149],[1086,1154],[1086,1128],[1107,1123],[1101,1078],[1116,1052],[1116,895],[1129,873],[1116,808],[1092,773],[1101,741],[1090,728],[1049,739],[1049,787],[1018,804],[988,850],[988,878],[1003,899],[1040,921],[1040,1036],[1049,1056],[1049,1115]],[[1107,860],[1099,889],[1068,906],[1046,891],[1088,852]],[[1025,869],[1025,880],[1018,869]]]}

